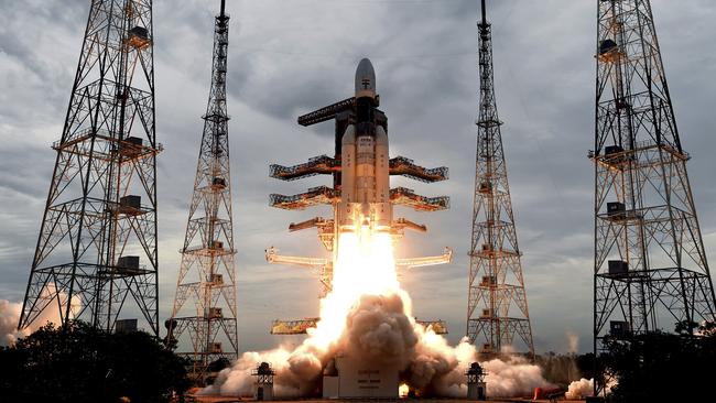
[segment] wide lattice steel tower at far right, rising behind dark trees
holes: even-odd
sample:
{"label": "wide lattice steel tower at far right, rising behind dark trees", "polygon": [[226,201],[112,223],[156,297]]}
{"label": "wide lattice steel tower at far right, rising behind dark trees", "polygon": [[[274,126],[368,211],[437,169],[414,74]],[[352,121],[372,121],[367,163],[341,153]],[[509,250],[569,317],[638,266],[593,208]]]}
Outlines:
{"label": "wide lattice steel tower at far right, rising behind dark trees", "polygon": [[[594,350],[714,320],[714,288],[651,11],[599,0]],[[601,386],[597,384],[597,391]]]}

